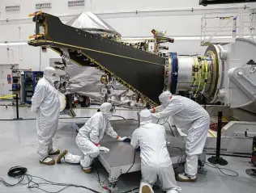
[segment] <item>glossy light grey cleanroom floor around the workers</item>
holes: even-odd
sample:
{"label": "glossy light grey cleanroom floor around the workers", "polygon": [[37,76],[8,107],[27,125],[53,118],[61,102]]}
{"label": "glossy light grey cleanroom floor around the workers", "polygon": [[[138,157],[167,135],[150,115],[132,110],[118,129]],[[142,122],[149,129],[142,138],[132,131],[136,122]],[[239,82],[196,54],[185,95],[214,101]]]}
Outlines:
{"label": "glossy light grey cleanroom floor around the workers", "polygon": [[[90,116],[95,110],[76,110],[78,116]],[[20,116],[23,118],[35,118],[35,115],[28,107],[19,108]],[[126,118],[136,118],[135,113],[130,111],[117,111],[116,115],[124,115]],[[8,178],[7,171],[12,166],[25,166],[28,173],[41,176],[53,182],[75,183],[104,192],[100,189],[97,181],[97,174],[84,174],[77,165],[55,165],[42,166],[38,163],[36,156],[36,120],[10,121],[15,117],[15,108],[0,107],[0,178],[6,179],[9,183],[16,180]],[[63,117],[63,116],[62,116]],[[65,116],[64,116],[65,117]],[[7,121],[8,120],[8,121]],[[76,122],[84,122],[86,119],[62,119],[60,120],[58,132],[54,137],[54,144],[60,149],[69,149],[72,153],[79,153],[75,145]],[[237,170],[237,178],[221,174],[219,170],[207,167],[207,175],[198,174],[197,183],[178,183],[182,192],[207,192],[215,193],[216,190],[225,193],[255,193],[256,179],[245,174],[245,170],[251,168],[249,158],[225,157],[228,160],[227,168]],[[228,172],[228,171],[227,171]],[[102,180],[108,177],[105,170],[100,170]],[[127,191],[139,186],[139,173],[125,174],[120,178],[117,187],[120,191]],[[47,191],[58,191],[59,187],[44,187]],[[62,192],[91,192],[80,188],[69,188]],[[26,186],[4,187],[0,183],[0,192],[42,192],[40,190],[28,190]],[[136,191],[134,191],[136,192]],[[158,191],[160,192],[160,191]]]}

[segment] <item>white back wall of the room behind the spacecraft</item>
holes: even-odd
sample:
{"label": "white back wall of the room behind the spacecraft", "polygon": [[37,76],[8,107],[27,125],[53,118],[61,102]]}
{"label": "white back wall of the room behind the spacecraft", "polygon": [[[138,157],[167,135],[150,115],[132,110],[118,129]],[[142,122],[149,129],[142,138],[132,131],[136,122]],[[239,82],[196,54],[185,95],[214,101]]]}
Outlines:
{"label": "white back wall of the room behind the spacecraft", "polygon": [[[48,0],[0,0],[0,63],[8,61],[7,46],[1,46],[3,42],[28,40],[28,36],[34,34],[35,23],[28,19],[28,14],[35,11],[37,2]],[[201,18],[204,13],[211,15],[223,15],[241,10],[242,4],[228,6],[198,6],[199,0],[85,0],[84,6],[68,7],[68,0],[49,0],[52,8],[43,11],[52,15],[62,15],[61,19],[71,19],[82,11],[95,12],[113,28],[119,31],[123,37],[150,37],[151,29],[167,31],[168,36],[177,38],[174,44],[169,45],[169,50],[180,54],[203,54],[205,48],[200,47]],[[5,6],[20,5],[19,11],[5,10]],[[254,4],[250,4],[255,6]],[[219,8],[218,8],[219,7]],[[192,8],[194,11],[192,12]],[[224,8],[224,9],[223,9]],[[136,14],[136,10],[138,13]],[[247,10],[247,9],[246,9]],[[246,11],[245,10],[245,11]],[[218,13],[216,13],[218,12]],[[7,19],[7,21],[6,21]],[[189,37],[190,40],[181,40]],[[196,40],[193,40],[195,38]],[[20,68],[39,69],[40,48],[23,46],[10,46],[14,50],[14,61]],[[41,54],[41,69],[49,65],[50,57],[58,55],[49,50]],[[9,57],[9,60],[12,60]]]}

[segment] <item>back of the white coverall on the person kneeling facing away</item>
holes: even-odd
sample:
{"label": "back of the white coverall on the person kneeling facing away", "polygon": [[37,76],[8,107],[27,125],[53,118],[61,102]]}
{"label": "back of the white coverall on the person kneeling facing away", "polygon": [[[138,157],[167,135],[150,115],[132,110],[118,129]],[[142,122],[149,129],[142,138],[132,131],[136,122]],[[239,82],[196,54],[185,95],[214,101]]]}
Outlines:
{"label": "back of the white coverall on the person kneeling facing away", "polygon": [[166,147],[165,128],[159,124],[143,124],[134,131],[141,149],[142,164],[167,166],[172,164]]}

